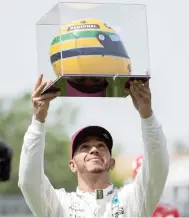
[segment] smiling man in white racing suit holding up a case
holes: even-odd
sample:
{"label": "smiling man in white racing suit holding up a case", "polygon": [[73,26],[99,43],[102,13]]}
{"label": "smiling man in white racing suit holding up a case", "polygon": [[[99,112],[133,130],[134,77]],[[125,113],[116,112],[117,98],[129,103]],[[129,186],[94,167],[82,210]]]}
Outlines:
{"label": "smiling man in white racing suit holding up a case", "polygon": [[150,217],[164,189],[169,164],[166,138],[152,112],[149,82],[133,81],[126,90],[141,117],[145,151],[144,164],[132,188],[124,186],[118,190],[110,183],[109,173],[115,165],[111,156],[113,140],[107,130],[92,126],[72,137],[69,166],[78,179],[73,193],[55,190],[44,173],[45,121],[50,101],[60,94],[41,95],[47,85],[41,75],[32,94],[34,116],[25,134],[20,158],[19,187],[33,214],[38,217]]}

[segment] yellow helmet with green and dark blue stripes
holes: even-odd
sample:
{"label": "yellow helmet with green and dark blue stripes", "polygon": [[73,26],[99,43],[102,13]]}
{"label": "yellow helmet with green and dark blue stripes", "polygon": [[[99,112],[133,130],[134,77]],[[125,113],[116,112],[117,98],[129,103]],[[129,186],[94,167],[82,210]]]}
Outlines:
{"label": "yellow helmet with green and dark blue stripes", "polygon": [[119,35],[95,19],[64,26],[51,43],[50,60],[58,77],[131,74],[130,58]]}

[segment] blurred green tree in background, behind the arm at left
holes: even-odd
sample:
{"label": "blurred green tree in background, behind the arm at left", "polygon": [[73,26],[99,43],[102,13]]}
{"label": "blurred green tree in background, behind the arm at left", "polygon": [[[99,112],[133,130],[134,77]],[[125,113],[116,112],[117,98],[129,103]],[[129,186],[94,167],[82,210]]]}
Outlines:
{"label": "blurred green tree in background, behind the arm at left", "polygon": [[[19,158],[23,137],[32,118],[30,99],[30,94],[27,93],[15,99],[0,99],[0,139],[10,144],[14,152],[11,180],[1,183],[1,194],[20,193]],[[64,117],[67,117],[68,123],[74,124],[77,108],[63,103],[50,110],[50,122],[46,124],[45,173],[55,188],[65,187],[67,191],[73,191],[76,178],[68,168],[70,139],[67,136]]]}

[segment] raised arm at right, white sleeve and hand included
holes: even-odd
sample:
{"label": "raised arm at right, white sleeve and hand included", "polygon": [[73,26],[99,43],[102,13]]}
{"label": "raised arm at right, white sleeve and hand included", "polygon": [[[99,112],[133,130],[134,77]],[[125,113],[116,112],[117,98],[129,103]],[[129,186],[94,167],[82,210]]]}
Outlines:
{"label": "raised arm at right, white sleeve and hand included", "polygon": [[131,82],[127,90],[141,117],[144,142],[143,164],[132,185],[125,186],[121,195],[125,199],[130,217],[151,217],[166,183],[169,157],[166,137],[151,108],[149,81]]}

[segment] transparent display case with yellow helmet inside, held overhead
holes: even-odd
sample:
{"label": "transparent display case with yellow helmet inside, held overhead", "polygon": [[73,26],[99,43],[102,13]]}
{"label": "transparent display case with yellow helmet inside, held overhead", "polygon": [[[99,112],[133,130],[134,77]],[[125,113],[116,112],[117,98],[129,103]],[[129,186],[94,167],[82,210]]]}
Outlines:
{"label": "transparent display case with yellow helmet inside, held overhead", "polygon": [[145,5],[58,2],[37,23],[43,91],[67,97],[126,97],[131,79],[149,75]]}

